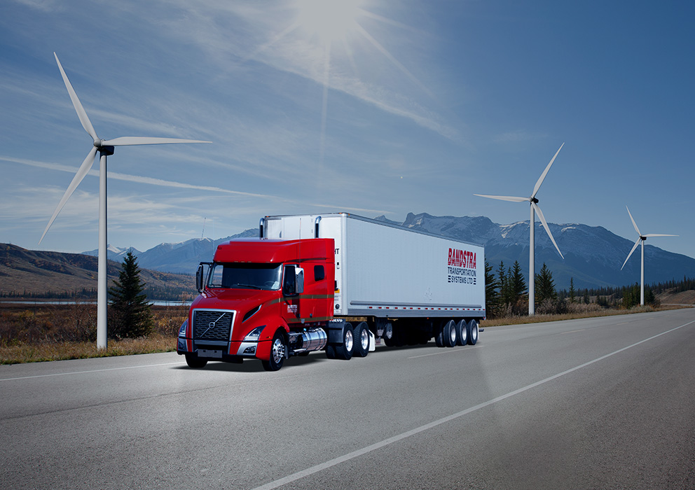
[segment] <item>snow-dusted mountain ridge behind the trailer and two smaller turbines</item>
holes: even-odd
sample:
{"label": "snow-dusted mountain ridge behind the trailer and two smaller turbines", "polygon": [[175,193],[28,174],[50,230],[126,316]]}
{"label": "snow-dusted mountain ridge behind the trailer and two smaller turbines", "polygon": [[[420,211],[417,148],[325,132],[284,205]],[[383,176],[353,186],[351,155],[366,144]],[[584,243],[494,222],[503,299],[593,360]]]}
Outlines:
{"label": "snow-dusted mountain ridge behind the trailer and two smaller turbines", "polygon": [[[377,219],[389,221],[383,216]],[[523,272],[528,274],[528,220],[500,225],[485,216],[431,216],[422,213],[408,214],[403,223],[397,224],[484,245],[486,260],[495,272],[500,261],[507,268],[518,260]],[[640,281],[639,251],[633,253],[624,269],[620,270],[634,244],[633,239],[619,237],[601,226],[579,223],[548,223],[548,226],[565,260],[558,255],[541,223],[536,222],[536,272],[545,262],[558,288],[569,288],[570,278],[574,278],[575,288],[625,286]],[[695,277],[695,259],[653,245],[645,246],[645,283],[682,279],[683,276]]]}

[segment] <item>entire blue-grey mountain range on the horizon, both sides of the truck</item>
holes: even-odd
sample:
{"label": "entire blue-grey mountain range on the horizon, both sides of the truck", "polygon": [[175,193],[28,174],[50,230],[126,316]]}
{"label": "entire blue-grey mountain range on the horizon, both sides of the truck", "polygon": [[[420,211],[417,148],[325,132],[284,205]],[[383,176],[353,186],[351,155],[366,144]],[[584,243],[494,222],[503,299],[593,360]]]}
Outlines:
{"label": "entire blue-grey mountain range on the horizon, both sides of the truck", "polygon": [[[486,260],[497,272],[500,262],[504,268],[518,260],[524,274],[528,274],[529,221],[509,225],[493,223],[485,216],[432,216],[426,213],[409,213],[405,221],[391,221],[385,216],[378,221],[402,225],[414,230],[443,235],[485,246]],[[543,263],[551,270],[556,287],[567,289],[570,278],[575,288],[599,288],[626,286],[640,281],[640,251],[635,251],[624,269],[620,269],[633,239],[625,239],[600,226],[578,223],[557,225],[548,223],[563,260],[553,247],[540,223],[535,223],[535,262],[537,271]],[[190,239],[177,244],[160,244],[147,251],[133,250],[140,267],[162,272],[193,274],[198,262],[212,260],[216,244],[239,237],[256,237],[258,228],[245,230],[238,235],[212,240]],[[122,261],[128,248],[109,248],[109,259]],[[85,252],[96,255],[97,251]],[[645,246],[645,282],[658,283],[684,276],[695,277],[695,259],[687,255],[671,253],[653,245]],[[528,276],[527,276],[528,281]]]}

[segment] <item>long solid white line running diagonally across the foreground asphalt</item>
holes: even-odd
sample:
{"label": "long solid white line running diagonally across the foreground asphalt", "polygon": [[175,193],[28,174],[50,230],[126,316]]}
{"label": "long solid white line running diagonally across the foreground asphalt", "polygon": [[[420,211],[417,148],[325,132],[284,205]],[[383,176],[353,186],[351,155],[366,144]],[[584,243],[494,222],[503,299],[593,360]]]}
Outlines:
{"label": "long solid white line running diagonally across the foreground asphalt", "polygon": [[631,349],[634,346],[638,346],[640,344],[644,344],[645,342],[649,342],[649,340],[656,339],[656,337],[660,337],[661,335],[665,335],[667,333],[673,332],[674,330],[678,330],[679,328],[683,328],[687,325],[690,325],[691,323],[695,323],[695,320],[689,321],[688,323],[684,323],[683,325],[680,325],[678,327],[671,328],[670,330],[666,330],[666,332],[658,333],[652,337],[649,337],[648,339],[640,340],[640,342],[635,342],[635,344],[628,345],[626,347],[623,347],[622,349],[618,349],[617,351],[613,351],[609,354],[606,354],[605,356],[600,356],[599,358],[596,358],[594,360],[590,360],[588,363],[580,364],[580,365],[572,367],[571,369],[568,369],[566,371],[560,372],[558,374],[554,374],[553,376],[551,376],[549,378],[542,379],[541,381],[537,381],[535,383],[529,384],[528,386],[524,386],[523,388],[518,388],[518,390],[510,391],[509,393],[507,393],[505,395],[498,396],[497,398],[493,398],[492,400],[488,400],[486,402],[483,402],[480,405],[476,405],[474,407],[467,408],[467,409],[463,410],[462,412],[457,412],[455,414],[446,416],[443,419],[439,419],[439,420],[436,420],[434,422],[427,423],[424,426],[414,428],[413,430],[408,430],[407,432],[401,433],[399,435],[394,435],[393,437],[389,437],[388,439],[385,439],[383,441],[376,442],[375,444],[371,444],[367,447],[363,447],[362,449],[357,449],[357,451],[352,451],[352,452],[345,454],[343,456],[338,456],[337,458],[330,459],[329,461],[326,461],[324,463],[320,463],[320,464],[312,466],[310,468],[306,468],[305,470],[301,470],[301,471],[298,471],[296,473],[292,473],[291,475],[287,475],[286,477],[276,479],[274,482],[269,482],[269,483],[266,483],[264,485],[257,486],[253,490],[277,489],[277,487],[279,487],[279,486],[294,482],[294,481],[301,479],[303,477],[308,477],[309,475],[313,475],[314,473],[317,473],[319,471],[327,470],[328,468],[332,468],[333,466],[339,465],[340,463],[345,463],[345,461],[350,461],[351,459],[357,458],[357,457],[362,456],[364,454],[367,454],[371,451],[376,451],[377,449],[381,449],[382,447],[393,444],[394,442],[399,442],[401,440],[404,440],[406,437],[410,437],[411,435],[425,432],[425,430],[429,430],[429,429],[434,428],[436,426],[440,426],[442,423],[446,423],[446,422],[452,421],[454,419],[458,419],[459,417],[467,415],[471,412],[475,412],[476,410],[479,410],[481,408],[488,407],[490,405],[493,405],[494,403],[501,402],[502,400],[507,400],[507,398],[511,398],[514,395],[518,395],[519,393],[523,393],[525,391],[528,391],[531,388],[535,388],[536,386],[540,386],[542,384],[545,384],[548,381],[553,381],[553,379],[558,379],[559,377],[563,377],[563,376],[565,376],[565,374],[570,374],[571,372],[582,369],[582,367],[592,365],[593,363],[598,363],[598,361],[600,361],[600,360],[604,360],[606,358],[614,356],[615,354],[621,353],[622,351],[626,351],[628,349]]}

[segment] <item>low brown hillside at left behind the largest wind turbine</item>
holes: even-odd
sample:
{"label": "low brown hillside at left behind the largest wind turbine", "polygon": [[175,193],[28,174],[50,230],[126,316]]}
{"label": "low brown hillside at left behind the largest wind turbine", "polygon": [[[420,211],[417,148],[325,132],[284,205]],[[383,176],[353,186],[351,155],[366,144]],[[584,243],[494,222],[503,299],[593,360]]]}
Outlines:
{"label": "low brown hillside at left behind the largest wind turbine", "polygon": [[[113,279],[118,278],[121,263],[109,260],[107,269],[111,286]],[[141,277],[151,300],[179,300],[181,294],[197,294],[190,275],[142,269]],[[96,288],[96,257],[0,244],[0,296],[32,297],[50,293],[52,297],[73,297]]]}

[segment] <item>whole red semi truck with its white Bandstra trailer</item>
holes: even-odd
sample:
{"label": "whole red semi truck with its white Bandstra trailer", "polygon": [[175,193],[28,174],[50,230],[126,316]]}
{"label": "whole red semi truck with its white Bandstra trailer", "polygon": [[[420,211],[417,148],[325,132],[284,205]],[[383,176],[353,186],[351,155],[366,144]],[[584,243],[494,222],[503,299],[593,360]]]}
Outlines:
{"label": "whole red semi truck with its white Bandstra trailer", "polygon": [[347,213],[266,216],[259,238],[217,246],[179,330],[190,367],[258,358],[269,371],[325,350],[475,344],[485,318],[482,246]]}

